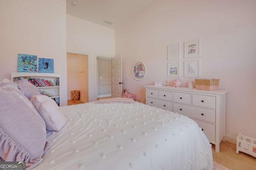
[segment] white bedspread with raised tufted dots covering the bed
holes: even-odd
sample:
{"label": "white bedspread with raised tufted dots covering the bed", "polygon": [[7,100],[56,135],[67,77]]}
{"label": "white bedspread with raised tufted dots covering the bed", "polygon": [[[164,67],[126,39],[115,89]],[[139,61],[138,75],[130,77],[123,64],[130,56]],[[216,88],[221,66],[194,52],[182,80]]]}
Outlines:
{"label": "white bedspread with raised tufted dots covering the bed", "polygon": [[192,119],[156,107],[60,107],[67,123],[48,132],[50,149],[33,170],[212,170],[211,145]]}

